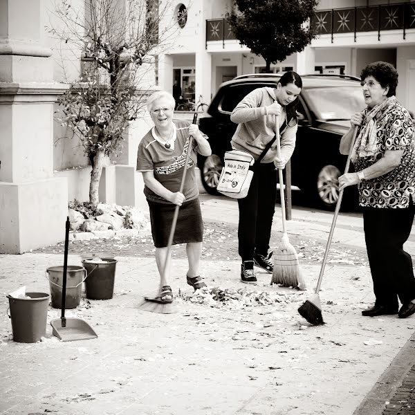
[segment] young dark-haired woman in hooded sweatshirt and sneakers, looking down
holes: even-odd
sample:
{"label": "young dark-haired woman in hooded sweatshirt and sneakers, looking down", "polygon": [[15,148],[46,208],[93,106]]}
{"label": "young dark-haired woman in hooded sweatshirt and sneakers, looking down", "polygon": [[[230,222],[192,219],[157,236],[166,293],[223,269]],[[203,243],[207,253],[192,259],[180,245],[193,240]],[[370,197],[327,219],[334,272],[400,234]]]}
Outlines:
{"label": "young dark-haired woman in hooded sweatshirt and sneakers, looking down", "polygon": [[293,154],[297,133],[295,107],[301,89],[301,77],[288,71],[279,79],[277,88],[258,88],[246,95],[230,116],[238,124],[232,148],[248,151],[255,159],[275,137],[277,125],[281,127],[280,155],[277,156],[277,142],[274,142],[261,162],[254,165],[248,196],[238,199],[241,281],[246,284],[257,282],[254,265],[273,273],[273,252],[268,250],[277,197],[275,167],[284,169]]}

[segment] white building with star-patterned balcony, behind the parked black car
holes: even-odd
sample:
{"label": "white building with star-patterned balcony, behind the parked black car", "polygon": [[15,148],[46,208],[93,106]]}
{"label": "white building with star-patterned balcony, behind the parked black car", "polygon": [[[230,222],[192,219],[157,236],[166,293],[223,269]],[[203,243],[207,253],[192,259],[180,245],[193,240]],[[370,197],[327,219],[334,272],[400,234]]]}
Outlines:
{"label": "white building with star-patterned balcony, behind the parked black car", "polygon": [[[178,0],[172,6],[183,27],[174,48],[160,55],[160,88],[172,91],[177,80],[183,98],[209,103],[221,82],[264,71],[264,59],[241,46],[225,20],[232,0]],[[398,100],[415,111],[415,1],[320,0],[312,23],[317,39],[272,65],[274,72],[359,76],[366,64],[383,60],[398,70]]]}

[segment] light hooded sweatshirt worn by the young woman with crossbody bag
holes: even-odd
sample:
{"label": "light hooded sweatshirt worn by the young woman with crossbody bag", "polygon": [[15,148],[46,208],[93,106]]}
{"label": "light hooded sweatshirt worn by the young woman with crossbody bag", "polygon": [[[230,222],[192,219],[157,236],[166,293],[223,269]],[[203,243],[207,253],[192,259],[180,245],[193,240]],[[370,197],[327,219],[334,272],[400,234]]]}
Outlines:
{"label": "light hooded sweatshirt worn by the young woman with crossbody bag", "polygon": [[[238,124],[237,131],[231,141],[233,149],[248,151],[255,160],[259,157],[267,143],[275,136],[275,116],[266,116],[265,107],[273,104],[276,100],[275,88],[265,86],[254,89],[237,104],[230,116],[230,120]],[[286,110],[283,105],[278,125],[281,126],[284,120],[286,120]],[[281,158],[284,163],[287,163],[293,155],[297,133],[296,120],[289,121],[287,120],[288,125],[280,134]],[[276,157],[277,142],[274,142],[261,163],[272,163]]]}

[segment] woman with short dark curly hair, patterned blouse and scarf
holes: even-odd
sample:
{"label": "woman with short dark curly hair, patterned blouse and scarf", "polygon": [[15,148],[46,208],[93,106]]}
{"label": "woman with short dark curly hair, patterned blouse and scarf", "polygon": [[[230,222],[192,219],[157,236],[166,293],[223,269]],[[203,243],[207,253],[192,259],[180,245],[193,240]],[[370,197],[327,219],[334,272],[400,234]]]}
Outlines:
{"label": "woman with short dark curly hair, patterned blouse and scarf", "polygon": [[[358,184],[367,256],[376,297],[362,315],[415,313],[411,256],[403,250],[414,221],[414,124],[395,97],[398,72],[387,62],[367,65],[361,75],[365,108],[351,117],[340,142],[348,154],[353,129],[359,128],[351,160],[356,173],[339,178],[340,190]],[[398,311],[398,299],[402,306]]]}

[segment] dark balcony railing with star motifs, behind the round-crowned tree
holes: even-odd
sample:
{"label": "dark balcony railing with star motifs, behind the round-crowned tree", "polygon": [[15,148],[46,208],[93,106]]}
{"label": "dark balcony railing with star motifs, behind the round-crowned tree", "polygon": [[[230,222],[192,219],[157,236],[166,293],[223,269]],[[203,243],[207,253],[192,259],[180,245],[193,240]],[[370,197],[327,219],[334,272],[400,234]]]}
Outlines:
{"label": "dark balcony railing with star motifs, behind the round-crowned tree", "polygon": [[[331,10],[317,10],[311,18],[311,24],[317,30],[317,35],[331,35],[338,33],[380,32],[385,30],[402,30],[405,39],[405,30],[415,28],[415,1],[396,4],[381,4],[379,6],[365,6],[353,8],[339,8]],[[236,39],[226,19],[208,19],[206,21],[206,42],[221,41],[225,47],[225,40]]]}

